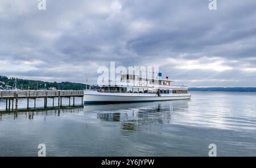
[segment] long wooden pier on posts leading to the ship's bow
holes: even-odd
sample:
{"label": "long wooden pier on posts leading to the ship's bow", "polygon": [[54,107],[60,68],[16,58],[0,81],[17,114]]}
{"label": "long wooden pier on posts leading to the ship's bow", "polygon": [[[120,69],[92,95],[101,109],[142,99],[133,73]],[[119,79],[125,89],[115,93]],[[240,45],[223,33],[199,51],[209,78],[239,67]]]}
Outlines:
{"label": "long wooden pier on posts leading to the ship's bow", "polygon": [[58,98],[58,106],[62,106],[62,98],[69,98],[69,106],[71,106],[71,98],[73,98],[73,106],[75,106],[75,97],[81,98],[81,105],[83,105],[84,91],[75,90],[46,90],[46,91],[0,91],[0,99],[6,99],[6,111],[18,111],[18,100],[27,99],[27,108],[29,108],[29,99],[34,99],[34,108],[36,108],[36,99],[44,98],[44,108],[47,108],[47,100],[52,99],[52,106],[54,107],[54,98]]}

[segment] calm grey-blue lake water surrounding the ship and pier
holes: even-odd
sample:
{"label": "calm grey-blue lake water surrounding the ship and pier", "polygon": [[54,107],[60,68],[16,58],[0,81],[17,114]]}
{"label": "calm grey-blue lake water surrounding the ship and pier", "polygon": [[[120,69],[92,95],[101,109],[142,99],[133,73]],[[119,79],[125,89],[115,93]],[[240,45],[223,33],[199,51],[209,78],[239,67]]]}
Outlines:
{"label": "calm grey-blue lake water surrounding the ship and pier", "polygon": [[37,156],[42,143],[47,156],[208,156],[209,144],[217,145],[217,156],[256,156],[256,93],[191,94],[2,114],[0,156]]}

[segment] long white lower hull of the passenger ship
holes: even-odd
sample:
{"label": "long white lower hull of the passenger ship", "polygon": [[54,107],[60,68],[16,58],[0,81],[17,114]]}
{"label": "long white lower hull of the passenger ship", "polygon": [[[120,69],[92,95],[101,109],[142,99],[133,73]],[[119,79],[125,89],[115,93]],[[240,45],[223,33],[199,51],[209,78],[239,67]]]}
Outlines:
{"label": "long white lower hull of the passenger ship", "polygon": [[138,93],[102,93],[98,91],[84,91],[84,103],[130,103],[152,102],[163,100],[190,99],[190,94],[138,94]]}

